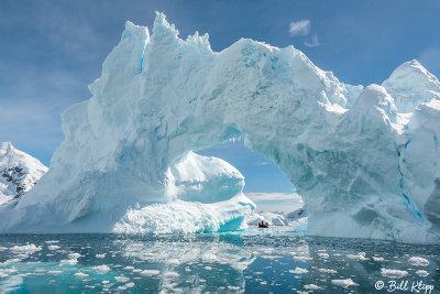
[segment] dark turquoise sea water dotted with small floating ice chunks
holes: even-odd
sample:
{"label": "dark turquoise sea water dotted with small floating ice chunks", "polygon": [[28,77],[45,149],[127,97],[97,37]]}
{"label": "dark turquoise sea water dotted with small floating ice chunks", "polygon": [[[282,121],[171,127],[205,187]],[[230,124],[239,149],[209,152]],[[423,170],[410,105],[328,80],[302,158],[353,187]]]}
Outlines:
{"label": "dark turquoise sea water dotted with small floating ice chunks", "polygon": [[[408,282],[407,290],[395,293],[411,293],[418,281],[433,287],[420,293],[439,293],[439,255],[440,246],[311,238],[274,229],[1,235],[0,293],[376,293],[378,281],[388,290],[395,288],[393,281]],[[424,260],[414,265],[413,257]],[[406,275],[391,277],[388,271],[384,276],[382,269]],[[353,283],[337,281],[346,279]],[[389,292],[384,287],[382,293]]]}

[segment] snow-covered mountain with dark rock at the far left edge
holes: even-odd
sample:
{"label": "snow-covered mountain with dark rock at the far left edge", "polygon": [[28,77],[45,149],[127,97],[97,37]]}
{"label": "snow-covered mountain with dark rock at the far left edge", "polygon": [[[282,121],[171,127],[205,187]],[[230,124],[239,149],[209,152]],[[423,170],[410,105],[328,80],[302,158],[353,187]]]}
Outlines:
{"label": "snow-covered mountain with dark rock at the far left edge", "polygon": [[10,142],[0,143],[0,205],[21,197],[47,170],[38,160],[16,150]]}

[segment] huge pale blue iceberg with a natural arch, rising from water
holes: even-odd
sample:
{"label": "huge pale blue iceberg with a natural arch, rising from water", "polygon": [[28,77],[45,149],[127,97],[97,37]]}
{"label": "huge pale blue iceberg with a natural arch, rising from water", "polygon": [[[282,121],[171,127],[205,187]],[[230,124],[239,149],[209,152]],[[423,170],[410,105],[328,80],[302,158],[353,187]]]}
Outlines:
{"label": "huge pale blue iceberg with a natural arch, rising from water", "polygon": [[[387,94],[402,94],[393,76],[385,88],[350,86],[293,46],[242,39],[217,53],[208,35],[177,35],[164,14],[152,36],[127,23],[89,86],[92,97],[64,112],[65,140],[51,171],[1,208],[1,230],[240,228],[254,207],[241,193],[243,177],[191,150],[244,135],[302,195],[310,235],[438,240],[440,106],[422,104],[439,97],[437,78],[399,99],[422,104],[409,120]],[[427,76],[417,62],[404,67]],[[432,145],[431,161],[419,165],[424,142]]]}

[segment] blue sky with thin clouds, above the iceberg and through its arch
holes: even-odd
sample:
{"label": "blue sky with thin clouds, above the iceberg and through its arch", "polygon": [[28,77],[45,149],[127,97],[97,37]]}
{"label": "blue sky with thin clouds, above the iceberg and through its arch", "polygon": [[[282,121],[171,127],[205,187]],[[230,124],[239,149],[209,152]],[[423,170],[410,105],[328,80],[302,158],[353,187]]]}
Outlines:
{"label": "blue sky with thin clouds, above the iceberg and through its arch", "polygon": [[[63,140],[63,110],[90,98],[87,85],[100,76],[125,21],[151,28],[155,11],[165,12],[180,37],[209,33],[215,51],[241,37],[294,45],[348,84],[381,84],[414,58],[440,76],[436,0],[1,0],[0,141],[48,165]],[[242,140],[199,152],[238,167],[248,193],[296,199],[283,172]]]}

